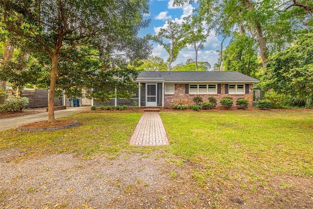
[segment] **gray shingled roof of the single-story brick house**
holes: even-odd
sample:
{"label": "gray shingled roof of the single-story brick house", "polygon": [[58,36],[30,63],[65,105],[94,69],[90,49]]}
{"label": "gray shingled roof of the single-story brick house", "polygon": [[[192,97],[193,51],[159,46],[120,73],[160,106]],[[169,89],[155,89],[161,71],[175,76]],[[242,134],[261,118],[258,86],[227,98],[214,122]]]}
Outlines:
{"label": "gray shingled roof of the single-story brick house", "polygon": [[259,80],[236,71],[142,71],[137,81],[164,80],[164,82],[249,82]]}

